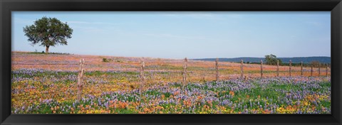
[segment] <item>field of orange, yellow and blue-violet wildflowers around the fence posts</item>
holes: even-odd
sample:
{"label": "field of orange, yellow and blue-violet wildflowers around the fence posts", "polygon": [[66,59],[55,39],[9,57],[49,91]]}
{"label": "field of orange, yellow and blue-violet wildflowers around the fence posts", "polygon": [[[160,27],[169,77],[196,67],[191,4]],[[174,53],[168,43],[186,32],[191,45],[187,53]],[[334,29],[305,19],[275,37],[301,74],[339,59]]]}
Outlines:
{"label": "field of orange, yellow and blue-violet wildflowers around the fence posts", "polygon": [[[78,61],[86,61],[83,91],[77,97]],[[111,62],[103,62],[109,58]],[[100,55],[12,53],[13,114],[330,114],[331,77],[309,67],[190,60],[182,87],[182,60],[145,58],[146,85],[140,85],[139,58]],[[317,69],[314,69],[317,70]]]}

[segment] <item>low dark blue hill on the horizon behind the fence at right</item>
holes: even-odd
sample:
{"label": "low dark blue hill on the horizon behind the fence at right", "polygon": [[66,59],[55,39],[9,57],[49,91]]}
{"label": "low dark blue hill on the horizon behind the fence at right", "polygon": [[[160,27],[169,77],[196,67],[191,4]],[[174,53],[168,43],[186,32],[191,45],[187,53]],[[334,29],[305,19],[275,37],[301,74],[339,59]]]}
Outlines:
{"label": "low dark blue hill on the horizon behind the fence at right", "polygon": [[[331,63],[331,57],[317,56],[317,57],[296,57],[296,58],[279,58],[281,61],[285,63],[289,63],[291,60],[294,63],[299,63],[303,61],[304,63],[309,63],[311,61],[319,61],[321,63]],[[205,61],[214,61],[216,58],[202,58],[202,59],[191,59],[191,60],[205,60]],[[219,58],[219,61],[224,62],[240,62],[244,60],[244,62],[266,62],[265,58]]]}

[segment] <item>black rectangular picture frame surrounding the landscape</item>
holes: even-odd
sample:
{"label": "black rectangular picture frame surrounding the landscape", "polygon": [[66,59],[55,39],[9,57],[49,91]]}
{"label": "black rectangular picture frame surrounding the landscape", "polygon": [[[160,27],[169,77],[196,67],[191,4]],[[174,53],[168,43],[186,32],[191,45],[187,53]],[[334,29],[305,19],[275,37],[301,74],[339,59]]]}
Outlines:
{"label": "black rectangular picture frame surrounding the landscape", "polygon": [[[342,123],[341,0],[0,0],[1,124]],[[11,114],[11,11],[331,11],[331,114]]]}

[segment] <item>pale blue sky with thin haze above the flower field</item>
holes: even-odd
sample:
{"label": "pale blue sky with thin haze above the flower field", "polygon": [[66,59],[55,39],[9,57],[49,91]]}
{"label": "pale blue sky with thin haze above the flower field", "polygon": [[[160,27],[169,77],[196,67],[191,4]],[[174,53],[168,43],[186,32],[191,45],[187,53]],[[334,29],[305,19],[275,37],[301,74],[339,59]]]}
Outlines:
{"label": "pale blue sky with thin haze above the flower field", "polygon": [[330,11],[12,12],[12,50],[41,52],[23,28],[43,16],[73,28],[50,52],[152,58],[331,56]]}

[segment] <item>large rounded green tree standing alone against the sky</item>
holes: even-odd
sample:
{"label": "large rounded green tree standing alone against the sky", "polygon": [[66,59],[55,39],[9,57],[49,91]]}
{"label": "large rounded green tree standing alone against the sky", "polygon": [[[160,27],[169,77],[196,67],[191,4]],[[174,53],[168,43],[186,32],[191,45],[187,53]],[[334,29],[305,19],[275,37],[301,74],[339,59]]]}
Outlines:
{"label": "large rounded green tree standing alone against the sky", "polygon": [[39,43],[46,47],[45,53],[48,54],[48,48],[55,45],[68,45],[66,39],[71,38],[73,29],[67,23],[59,21],[57,18],[43,17],[34,21],[31,26],[24,27],[25,36],[32,45]]}

